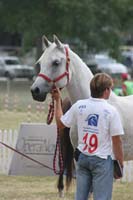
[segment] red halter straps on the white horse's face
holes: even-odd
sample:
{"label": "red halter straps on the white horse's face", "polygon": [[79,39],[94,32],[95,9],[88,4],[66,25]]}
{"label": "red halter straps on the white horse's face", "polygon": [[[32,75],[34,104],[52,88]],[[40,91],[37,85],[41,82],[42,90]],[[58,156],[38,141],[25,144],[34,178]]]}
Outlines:
{"label": "red halter straps on the white horse's face", "polygon": [[67,83],[69,82],[69,63],[70,63],[70,58],[69,58],[69,54],[68,54],[68,48],[65,47],[65,53],[66,53],[66,71],[59,75],[57,78],[55,78],[54,80],[50,79],[48,76],[46,76],[45,74],[39,73],[38,76],[42,77],[44,80],[50,82],[57,82],[60,79],[62,79],[64,76],[67,76]]}

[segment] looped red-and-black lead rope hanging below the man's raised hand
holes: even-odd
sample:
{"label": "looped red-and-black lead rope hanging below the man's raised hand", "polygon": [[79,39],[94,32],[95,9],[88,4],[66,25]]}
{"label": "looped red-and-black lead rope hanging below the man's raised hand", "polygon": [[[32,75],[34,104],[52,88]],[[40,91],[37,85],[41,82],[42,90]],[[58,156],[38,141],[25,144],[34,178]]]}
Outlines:
{"label": "looped red-and-black lead rope hanging below the man's raised hand", "polygon": [[[47,116],[47,124],[51,124],[52,120],[54,118],[54,98],[52,98],[52,101],[49,105],[49,112]],[[59,158],[59,171],[56,169],[56,161],[57,161],[57,154]],[[62,174],[64,171],[64,163],[63,163],[63,156],[61,152],[61,143],[60,143],[60,135],[59,135],[59,128],[57,127],[57,139],[56,139],[56,146],[55,146],[55,153],[53,158],[53,170],[55,174]]]}

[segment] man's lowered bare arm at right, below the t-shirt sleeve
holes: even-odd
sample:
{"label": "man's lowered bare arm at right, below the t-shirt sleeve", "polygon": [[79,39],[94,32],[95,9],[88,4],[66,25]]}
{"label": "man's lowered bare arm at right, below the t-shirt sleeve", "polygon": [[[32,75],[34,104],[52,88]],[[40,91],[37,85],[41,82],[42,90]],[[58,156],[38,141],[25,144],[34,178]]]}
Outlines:
{"label": "man's lowered bare arm at right, below the t-shirt sleeve", "polygon": [[112,136],[112,143],[113,143],[113,152],[115,155],[116,160],[119,160],[121,166],[123,167],[124,155],[123,155],[123,148],[122,148],[122,139],[121,136]]}

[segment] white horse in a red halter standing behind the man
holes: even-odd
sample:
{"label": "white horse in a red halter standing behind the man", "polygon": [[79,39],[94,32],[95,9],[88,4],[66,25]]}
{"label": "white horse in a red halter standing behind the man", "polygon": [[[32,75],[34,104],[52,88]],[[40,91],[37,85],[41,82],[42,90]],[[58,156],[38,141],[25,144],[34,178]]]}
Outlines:
{"label": "white horse in a red halter standing behind the man", "polygon": [[[54,36],[51,43],[43,37],[44,53],[38,60],[40,73],[31,87],[32,96],[37,101],[45,101],[53,84],[67,88],[71,102],[90,97],[90,69],[67,45]],[[114,105],[121,116],[125,135],[123,136],[124,160],[133,160],[133,95],[116,96],[111,92],[109,103]],[[71,140],[77,146],[75,127],[71,129]]]}

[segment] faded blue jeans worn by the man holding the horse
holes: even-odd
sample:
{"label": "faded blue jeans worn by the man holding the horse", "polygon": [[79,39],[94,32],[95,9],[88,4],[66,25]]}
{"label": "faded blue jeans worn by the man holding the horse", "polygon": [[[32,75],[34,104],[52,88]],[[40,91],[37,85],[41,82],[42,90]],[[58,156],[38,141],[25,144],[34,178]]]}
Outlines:
{"label": "faded blue jeans worn by the man holding the horse", "polygon": [[110,156],[108,159],[102,159],[81,153],[76,168],[75,200],[88,200],[92,190],[94,200],[111,200],[113,161]]}

